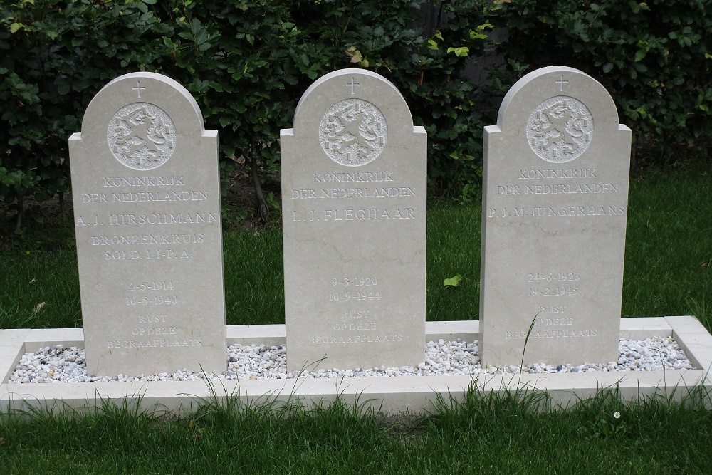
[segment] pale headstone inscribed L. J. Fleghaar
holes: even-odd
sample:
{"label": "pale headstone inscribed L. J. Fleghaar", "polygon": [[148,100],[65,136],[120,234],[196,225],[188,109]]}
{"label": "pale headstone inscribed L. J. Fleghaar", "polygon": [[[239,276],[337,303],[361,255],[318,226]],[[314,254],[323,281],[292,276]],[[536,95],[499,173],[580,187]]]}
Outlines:
{"label": "pale headstone inscribed L. J. Fleghaar", "polygon": [[289,371],[423,360],[426,142],[376,73],[329,73],[300,99],[281,131]]}

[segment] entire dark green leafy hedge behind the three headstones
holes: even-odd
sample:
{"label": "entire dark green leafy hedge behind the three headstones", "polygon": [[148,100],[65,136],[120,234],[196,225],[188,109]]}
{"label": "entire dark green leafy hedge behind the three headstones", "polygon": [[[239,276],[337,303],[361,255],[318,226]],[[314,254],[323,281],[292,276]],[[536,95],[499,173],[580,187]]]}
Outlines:
{"label": "entire dark green leafy hedge behind the three headstones", "polygon": [[[219,130],[223,176],[244,159],[256,184],[279,169],[278,132],[308,85],[338,68],[391,80],[429,134],[431,193],[481,183],[482,127],[524,73],[552,64],[600,80],[656,152],[706,150],[709,1],[15,0],[0,16],[0,196],[70,189],[67,140],[112,78],[156,71],[184,84]],[[491,82],[464,78],[506,28]],[[488,60],[488,61],[491,61]],[[266,212],[276,205],[261,199]],[[17,224],[19,224],[19,219]]]}

